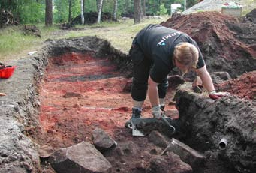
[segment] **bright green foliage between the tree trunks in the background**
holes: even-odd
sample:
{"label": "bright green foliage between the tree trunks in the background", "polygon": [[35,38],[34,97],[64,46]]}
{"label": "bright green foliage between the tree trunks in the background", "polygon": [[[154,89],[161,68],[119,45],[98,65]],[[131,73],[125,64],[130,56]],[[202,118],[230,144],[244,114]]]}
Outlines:
{"label": "bright green foliage between the tree trunks in the background", "polygon": [[[69,2],[71,1],[71,13]],[[116,0],[104,0],[102,13],[114,14]],[[187,0],[187,8],[196,4],[198,0]],[[116,17],[134,16],[134,0],[118,0]],[[170,13],[170,4],[182,4],[184,0],[141,0],[143,14],[162,15]],[[145,4],[145,5],[144,5]],[[144,9],[145,7],[145,9]],[[98,12],[96,0],[84,0],[84,13]],[[42,23],[45,17],[45,0],[1,0],[0,10],[9,10],[20,23]],[[81,0],[53,0],[53,22],[69,22],[68,15],[74,19],[81,13]],[[114,18],[114,16],[113,16]]]}

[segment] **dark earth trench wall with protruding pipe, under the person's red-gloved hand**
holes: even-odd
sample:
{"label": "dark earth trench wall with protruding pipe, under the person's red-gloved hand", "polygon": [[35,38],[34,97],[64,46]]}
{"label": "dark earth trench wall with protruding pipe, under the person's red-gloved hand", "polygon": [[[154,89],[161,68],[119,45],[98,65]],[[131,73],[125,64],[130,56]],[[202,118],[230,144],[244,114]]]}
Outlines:
{"label": "dark earth trench wall with protruding pipe, under the person's red-gloved hand", "polygon": [[[234,172],[256,172],[256,106],[252,100],[234,96],[211,100],[189,88],[185,83],[175,96],[185,134],[182,141]],[[226,147],[219,148],[221,139],[227,139]]]}

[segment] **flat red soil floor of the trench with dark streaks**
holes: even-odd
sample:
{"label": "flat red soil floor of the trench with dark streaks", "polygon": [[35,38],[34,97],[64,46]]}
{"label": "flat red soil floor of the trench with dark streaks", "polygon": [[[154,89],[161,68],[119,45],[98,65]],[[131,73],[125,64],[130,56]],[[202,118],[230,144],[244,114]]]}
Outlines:
{"label": "flat red soil floor of the trench with dark streaks", "polygon": [[[40,91],[40,127],[35,138],[40,145],[57,149],[91,141],[95,127],[113,139],[131,137],[131,130],[124,127],[132,107],[130,93],[122,91],[126,82],[107,59],[77,53],[50,58]],[[144,103],[143,116],[151,117],[149,100]]]}

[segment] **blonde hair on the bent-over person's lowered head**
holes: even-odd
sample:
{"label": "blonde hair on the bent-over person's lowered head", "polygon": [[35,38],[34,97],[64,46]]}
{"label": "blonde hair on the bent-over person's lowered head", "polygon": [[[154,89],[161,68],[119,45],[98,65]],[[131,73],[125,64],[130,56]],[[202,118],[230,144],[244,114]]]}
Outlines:
{"label": "blonde hair on the bent-over person's lowered head", "polygon": [[192,68],[197,67],[199,52],[196,46],[191,43],[179,43],[175,46],[173,52],[173,62],[176,59],[180,64],[185,65],[186,70],[182,70],[182,74],[188,73]]}

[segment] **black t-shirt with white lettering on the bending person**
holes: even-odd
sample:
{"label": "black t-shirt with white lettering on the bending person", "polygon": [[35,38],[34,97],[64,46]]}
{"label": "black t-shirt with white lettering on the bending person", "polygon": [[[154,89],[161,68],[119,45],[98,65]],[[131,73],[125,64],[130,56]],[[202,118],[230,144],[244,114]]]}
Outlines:
{"label": "black t-shirt with white lettering on the bending person", "polygon": [[150,77],[161,83],[173,69],[173,52],[179,43],[191,43],[197,47],[199,51],[199,59],[197,69],[205,65],[203,55],[200,52],[197,43],[187,34],[166,28],[162,25],[148,25],[137,34],[137,44],[143,51],[146,58],[152,61],[152,70]]}

